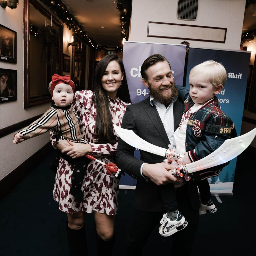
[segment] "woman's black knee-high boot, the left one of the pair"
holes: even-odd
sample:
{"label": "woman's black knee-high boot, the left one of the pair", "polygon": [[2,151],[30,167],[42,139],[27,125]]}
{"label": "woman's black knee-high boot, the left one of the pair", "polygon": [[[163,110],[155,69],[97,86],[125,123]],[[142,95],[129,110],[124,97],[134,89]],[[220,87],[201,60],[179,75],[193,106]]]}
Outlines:
{"label": "woman's black knee-high boot, the left one of the pair", "polygon": [[71,229],[68,227],[67,221],[66,228],[70,256],[87,256],[88,249],[84,227],[79,230]]}

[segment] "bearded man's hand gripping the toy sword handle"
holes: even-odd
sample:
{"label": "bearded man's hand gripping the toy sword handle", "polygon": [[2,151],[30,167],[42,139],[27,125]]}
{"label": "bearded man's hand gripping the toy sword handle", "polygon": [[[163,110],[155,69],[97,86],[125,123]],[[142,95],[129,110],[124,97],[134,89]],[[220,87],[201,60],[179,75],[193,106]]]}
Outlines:
{"label": "bearded man's hand gripping the toy sword handle", "polygon": [[142,174],[150,178],[156,185],[161,186],[177,180],[168,172],[170,169],[173,169],[173,166],[166,163],[144,164]]}

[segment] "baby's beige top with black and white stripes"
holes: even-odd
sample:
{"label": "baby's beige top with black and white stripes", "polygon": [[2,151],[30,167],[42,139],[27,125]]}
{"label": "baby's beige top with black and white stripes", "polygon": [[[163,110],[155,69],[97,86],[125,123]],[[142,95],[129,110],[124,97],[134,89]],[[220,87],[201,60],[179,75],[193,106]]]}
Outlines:
{"label": "baby's beige top with black and white stripes", "polygon": [[39,119],[18,133],[23,134],[23,138],[27,140],[51,130],[62,140],[85,143],[79,130],[79,116],[72,104],[59,107],[53,102]]}

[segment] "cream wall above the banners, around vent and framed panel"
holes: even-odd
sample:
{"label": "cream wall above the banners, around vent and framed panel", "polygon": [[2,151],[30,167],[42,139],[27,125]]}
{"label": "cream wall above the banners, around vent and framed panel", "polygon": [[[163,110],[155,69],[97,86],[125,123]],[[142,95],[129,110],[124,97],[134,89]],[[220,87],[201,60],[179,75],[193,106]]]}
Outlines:
{"label": "cream wall above the banners, around vent and framed panel", "polygon": [[190,47],[239,50],[245,2],[246,0],[199,0],[197,19],[187,21],[177,19],[178,0],[133,0],[130,40],[168,44],[180,44],[183,41],[183,39],[147,37],[148,21],[224,27],[227,28],[225,44],[187,41]]}

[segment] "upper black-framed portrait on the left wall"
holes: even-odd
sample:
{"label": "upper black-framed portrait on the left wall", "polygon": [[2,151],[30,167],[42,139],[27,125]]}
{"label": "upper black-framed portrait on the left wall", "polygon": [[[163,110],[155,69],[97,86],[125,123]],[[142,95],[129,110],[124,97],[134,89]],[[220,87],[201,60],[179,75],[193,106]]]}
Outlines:
{"label": "upper black-framed portrait on the left wall", "polygon": [[17,63],[17,33],[1,24],[0,61]]}

